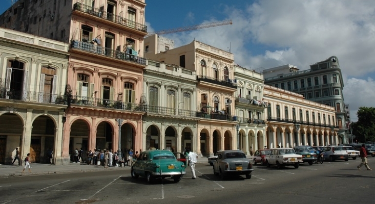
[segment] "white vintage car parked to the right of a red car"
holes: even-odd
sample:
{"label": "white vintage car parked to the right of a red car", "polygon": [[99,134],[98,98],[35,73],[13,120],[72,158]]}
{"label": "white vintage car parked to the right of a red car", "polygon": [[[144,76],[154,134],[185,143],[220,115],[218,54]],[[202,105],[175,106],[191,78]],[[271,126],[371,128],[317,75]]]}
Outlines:
{"label": "white vintage car parked to the right of a red car", "polygon": [[272,148],[271,154],[266,155],[265,160],[267,167],[277,165],[279,169],[291,165],[298,169],[303,162],[302,155],[297,155],[293,148]]}

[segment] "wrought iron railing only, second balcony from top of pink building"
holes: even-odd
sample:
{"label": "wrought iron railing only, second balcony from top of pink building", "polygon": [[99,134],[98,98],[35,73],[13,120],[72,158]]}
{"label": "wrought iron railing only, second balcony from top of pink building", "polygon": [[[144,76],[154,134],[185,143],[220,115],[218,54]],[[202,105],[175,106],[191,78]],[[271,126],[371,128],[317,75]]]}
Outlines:
{"label": "wrought iron railing only, second balcony from top of pink building", "polygon": [[128,53],[120,52],[119,50],[110,49],[107,47],[101,47],[89,42],[82,42],[78,40],[72,40],[70,47],[74,49],[85,50],[90,53],[95,53],[98,55],[105,55],[111,58],[116,58],[123,61],[134,62],[141,65],[146,65],[147,60],[135,55],[130,55]]}

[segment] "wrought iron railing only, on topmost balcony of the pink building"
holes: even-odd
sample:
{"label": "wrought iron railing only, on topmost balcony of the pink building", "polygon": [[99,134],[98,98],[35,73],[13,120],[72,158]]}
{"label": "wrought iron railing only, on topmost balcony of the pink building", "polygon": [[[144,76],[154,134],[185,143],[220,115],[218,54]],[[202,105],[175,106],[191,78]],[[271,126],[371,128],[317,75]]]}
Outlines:
{"label": "wrought iron railing only, on topmost balcony of the pink building", "polygon": [[75,3],[73,6],[73,10],[81,11],[81,12],[84,12],[93,16],[97,16],[99,18],[107,19],[117,24],[125,25],[135,30],[147,33],[147,25],[143,25],[141,23],[135,22],[134,20],[130,20],[121,16],[117,16],[113,13],[109,13],[102,9],[94,8],[94,7],[81,4],[81,3]]}

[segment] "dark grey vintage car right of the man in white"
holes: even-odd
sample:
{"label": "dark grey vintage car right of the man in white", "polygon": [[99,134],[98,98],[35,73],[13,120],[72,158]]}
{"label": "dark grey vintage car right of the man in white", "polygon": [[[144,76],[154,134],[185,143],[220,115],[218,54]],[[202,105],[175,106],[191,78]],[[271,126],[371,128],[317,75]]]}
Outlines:
{"label": "dark grey vintage car right of the man in white", "polygon": [[214,162],[214,174],[220,174],[222,179],[228,175],[245,175],[246,179],[251,179],[252,171],[251,160],[241,150],[220,151]]}

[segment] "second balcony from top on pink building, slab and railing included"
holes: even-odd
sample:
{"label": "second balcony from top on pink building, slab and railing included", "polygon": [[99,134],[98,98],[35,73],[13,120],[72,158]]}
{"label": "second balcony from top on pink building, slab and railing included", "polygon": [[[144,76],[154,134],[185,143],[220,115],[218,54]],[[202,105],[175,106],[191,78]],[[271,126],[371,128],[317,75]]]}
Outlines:
{"label": "second balcony from top on pink building, slab and railing included", "polygon": [[119,50],[110,49],[107,47],[101,47],[89,42],[82,42],[78,40],[72,40],[70,43],[70,51],[74,53],[79,53],[82,55],[88,55],[96,59],[112,60],[112,61],[122,61],[124,63],[129,63],[133,66],[144,68],[147,66],[147,60],[135,55],[130,55],[128,53],[120,52]]}

